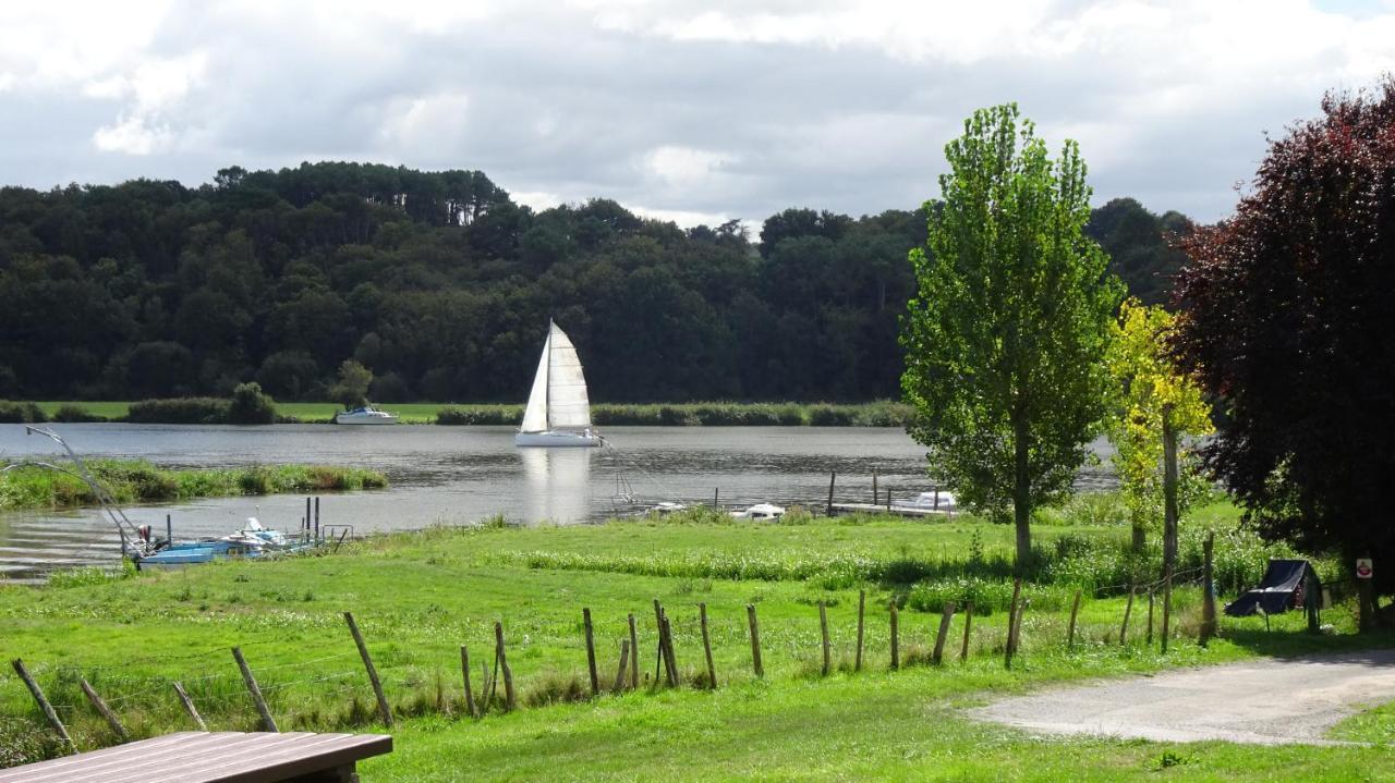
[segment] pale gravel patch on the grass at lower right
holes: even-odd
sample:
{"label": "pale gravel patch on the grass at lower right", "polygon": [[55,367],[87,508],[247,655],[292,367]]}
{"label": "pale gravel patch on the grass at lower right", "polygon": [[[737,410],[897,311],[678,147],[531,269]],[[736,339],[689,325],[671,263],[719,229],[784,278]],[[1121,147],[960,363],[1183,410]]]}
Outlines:
{"label": "pale gravel patch on the grass at lower right", "polygon": [[971,715],[1048,734],[1335,744],[1338,720],[1395,699],[1395,649],[1265,659],[1014,697]]}

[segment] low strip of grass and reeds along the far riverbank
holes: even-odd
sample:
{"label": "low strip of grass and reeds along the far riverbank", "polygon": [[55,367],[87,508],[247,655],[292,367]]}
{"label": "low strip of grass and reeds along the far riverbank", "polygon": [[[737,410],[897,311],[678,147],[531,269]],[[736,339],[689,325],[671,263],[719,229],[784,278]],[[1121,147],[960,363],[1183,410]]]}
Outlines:
{"label": "low strip of grass and reeds along the far riverbank", "polygon": [[[403,424],[516,425],[522,404],[384,403]],[[0,401],[0,424],[237,424],[219,397],[121,401]],[[336,403],[275,403],[276,424],[331,424]],[[597,426],[905,426],[912,408],[904,403],[596,403]]]}

